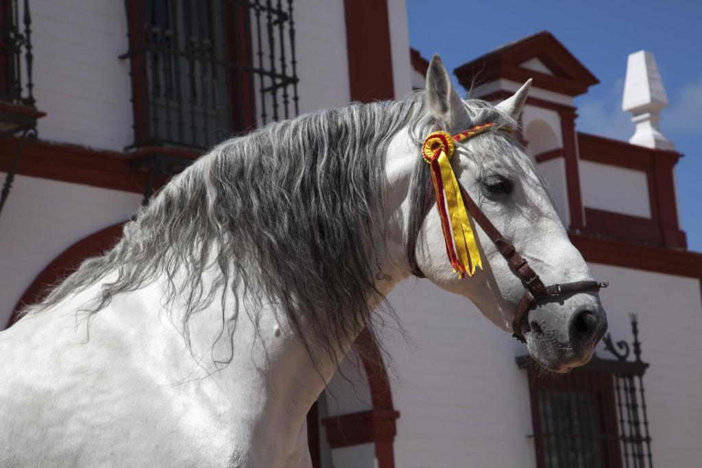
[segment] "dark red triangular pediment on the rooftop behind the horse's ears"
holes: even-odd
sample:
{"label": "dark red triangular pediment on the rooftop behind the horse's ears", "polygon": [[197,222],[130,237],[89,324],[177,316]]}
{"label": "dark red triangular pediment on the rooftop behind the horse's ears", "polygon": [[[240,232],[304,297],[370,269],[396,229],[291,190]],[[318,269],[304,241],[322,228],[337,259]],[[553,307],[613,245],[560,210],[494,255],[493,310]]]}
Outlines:
{"label": "dark red triangular pediment on the rooftop behind the horse's ears", "polygon": [[[538,58],[553,75],[520,66],[531,58]],[[454,70],[465,88],[474,81],[487,83],[496,79],[527,81],[534,78],[534,86],[555,93],[576,96],[588,91],[597,78],[568,51],[550,32],[540,32],[514,43],[497,48]]]}

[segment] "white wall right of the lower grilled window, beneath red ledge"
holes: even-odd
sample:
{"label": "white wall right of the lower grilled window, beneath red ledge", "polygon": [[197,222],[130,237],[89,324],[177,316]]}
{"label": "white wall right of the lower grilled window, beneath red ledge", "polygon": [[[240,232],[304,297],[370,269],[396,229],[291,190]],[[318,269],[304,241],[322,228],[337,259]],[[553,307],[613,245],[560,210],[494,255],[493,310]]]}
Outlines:
{"label": "white wall right of the lower grilled window, beneath red ledge", "polygon": [[601,297],[609,330],[631,339],[628,314],[639,317],[654,466],[694,467],[702,459],[702,304],[698,279],[591,265],[609,279]]}

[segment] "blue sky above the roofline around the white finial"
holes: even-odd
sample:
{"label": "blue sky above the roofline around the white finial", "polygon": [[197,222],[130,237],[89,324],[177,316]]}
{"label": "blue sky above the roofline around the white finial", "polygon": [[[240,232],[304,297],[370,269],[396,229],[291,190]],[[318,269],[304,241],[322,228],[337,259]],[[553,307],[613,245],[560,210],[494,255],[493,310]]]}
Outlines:
{"label": "blue sky above the roofline around the white finial", "polygon": [[654,53],[670,102],[661,131],[684,154],[676,166],[682,229],[688,248],[702,251],[702,1],[407,0],[407,15],[411,46],[426,58],[439,53],[450,70],[551,32],[600,79],[576,98],[578,130],[618,140],[634,129],[621,111],[627,56]]}

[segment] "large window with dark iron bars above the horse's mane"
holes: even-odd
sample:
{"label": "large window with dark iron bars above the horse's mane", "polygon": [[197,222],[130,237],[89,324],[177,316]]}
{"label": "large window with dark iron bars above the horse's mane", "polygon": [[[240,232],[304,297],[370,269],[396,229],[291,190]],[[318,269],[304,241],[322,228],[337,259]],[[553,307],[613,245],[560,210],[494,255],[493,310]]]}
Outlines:
{"label": "large window with dark iron bars above the horse's mane", "polygon": [[298,114],[292,0],[126,0],[133,147],[200,151]]}

